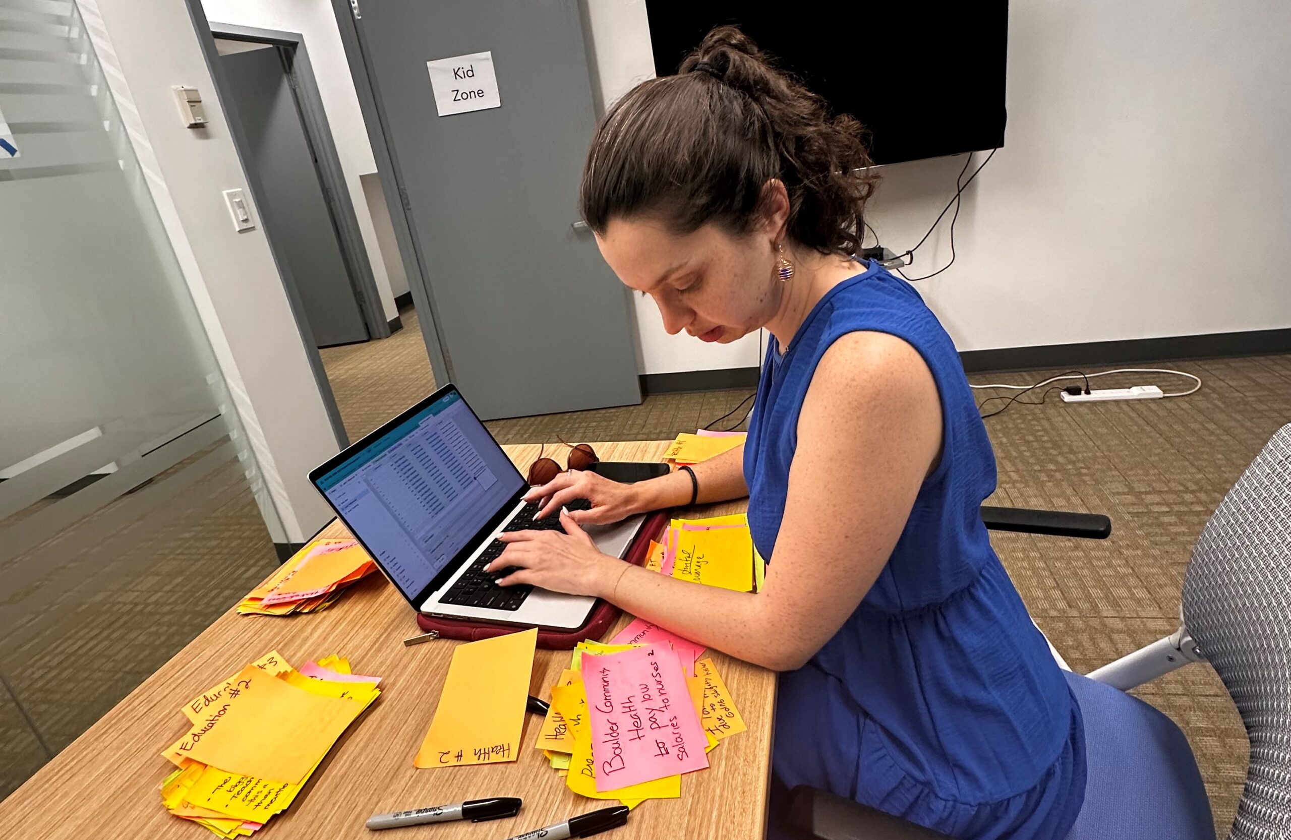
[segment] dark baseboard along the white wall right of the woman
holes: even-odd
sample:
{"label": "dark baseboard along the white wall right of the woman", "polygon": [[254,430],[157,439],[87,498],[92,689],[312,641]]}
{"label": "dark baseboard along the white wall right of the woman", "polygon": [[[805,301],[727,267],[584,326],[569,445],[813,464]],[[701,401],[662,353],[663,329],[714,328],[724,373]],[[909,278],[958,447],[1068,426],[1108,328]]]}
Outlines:
{"label": "dark baseboard along the white wall right of the woman", "polygon": [[999,373],[1042,368],[1105,368],[1159,363],[1168,359],[1216,359],[1283,352],[1291,352],[1291,329],[968,350],[959,354],[959,360],[967,373]]}

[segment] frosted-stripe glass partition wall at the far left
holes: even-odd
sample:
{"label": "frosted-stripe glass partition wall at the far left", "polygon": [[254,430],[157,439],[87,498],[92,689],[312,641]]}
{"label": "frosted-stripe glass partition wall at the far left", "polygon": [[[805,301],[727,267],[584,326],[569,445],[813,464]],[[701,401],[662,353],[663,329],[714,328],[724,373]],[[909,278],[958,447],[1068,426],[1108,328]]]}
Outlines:
{"label": "frosted-stripe glass partition wall at the far left", "polygon": [[0,797],[267,574],[275,537],[77,8],[0,0]]}

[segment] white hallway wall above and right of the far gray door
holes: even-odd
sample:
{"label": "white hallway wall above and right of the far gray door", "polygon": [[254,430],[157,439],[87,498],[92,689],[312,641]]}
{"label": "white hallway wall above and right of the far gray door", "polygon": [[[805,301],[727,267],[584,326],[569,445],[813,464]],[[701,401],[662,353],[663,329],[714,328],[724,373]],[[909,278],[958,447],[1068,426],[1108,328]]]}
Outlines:
{"label": "white hallway wall above and right of the far gray door", "polygon": [[395,294],[390,288],[390,276],[381,259],[381,245],[372,223],[372,213],[363,194],[359,175],[376,172],[372,146],[368,143],[368,129],[359,110],[359,97],[354,92],[354,79],[345,58],[341,32],[332,14],[328,0],[203,0],[207,19],[213,23],[235,23],[256,26],[265,30],[300,32],[305,36],[305,46],[310,52],[310,65],[319,85],[319,97],[327,112],[328,126],[336,143],[336,155],[345,173],[345,185],[350,191],[350,203],[359,222],[363,245],[368,250],[372,275],[377,281],[377,293],[386,317],[398,315]]}

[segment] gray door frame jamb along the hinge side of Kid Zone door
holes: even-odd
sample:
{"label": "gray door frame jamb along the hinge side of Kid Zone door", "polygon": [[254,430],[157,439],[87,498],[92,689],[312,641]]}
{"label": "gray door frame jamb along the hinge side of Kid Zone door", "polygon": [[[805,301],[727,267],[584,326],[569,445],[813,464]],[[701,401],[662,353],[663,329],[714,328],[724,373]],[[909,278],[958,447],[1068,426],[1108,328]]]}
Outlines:
{"label": "gray door frame jamb along the hinge side of Kid Zone door", "polygon": [[[200,3],[200,0],[188,0],[188,3]],[[430,370],[435,377],[435,385],[443,387],[452,382],[453,361],[440,339],[439,310],[435,307],[435,295],[431,292],[426,271],[426,254],[422,253],[421,245],[412,232],[412,206],[408,204],[408,194],[403,188],[403,177],[394,147],[386,138],[385,108],[381,106],[381,98],[376,94],[376,80],[368,74],[368,48],[363,37],[363,27],[359,26],[363,13],[359,8],[359,0],[330,0],[330,3],[337,28],[341,31],[345,59],[350,66],[350,76],[354,79],[354,89],[359,95],[359,111],[363,114],[363,121],[368,129],[368,142],[372,145],[372,156],[377,164],[377,177],[381,179],[381,190],[386,197],[386,206],[390,209],[395,241],[399,244],[399,257],[403,259],[404,272],[408,275],[408,290],[412,293],[413,306],[417,307],[417,321],[421,324],[421,334],[426,342],[426,355],[430,356]]]}

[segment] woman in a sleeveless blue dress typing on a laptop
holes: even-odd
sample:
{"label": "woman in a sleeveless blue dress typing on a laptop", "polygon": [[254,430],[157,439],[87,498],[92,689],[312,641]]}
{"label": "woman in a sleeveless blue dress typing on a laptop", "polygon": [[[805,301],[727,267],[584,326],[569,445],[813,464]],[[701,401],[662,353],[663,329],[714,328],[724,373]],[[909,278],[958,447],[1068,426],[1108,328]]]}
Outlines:
{"label": "woman in a sleeveless blue dress typing on a laptop", "polygon": [[[985,427],[919,295],[853,254],[873,190],[860,125],[732,27],[602,120],[582,213],[669,333],[775,337],[742,449],[636,485],[537,488],[567,533],[518,532],[502,585],[604,597],[780,671],[773,772],[955,837],[1062,837],[1082,720],[995,556]],[[749,495],[758,594],[599,554],[580,524]]]}

